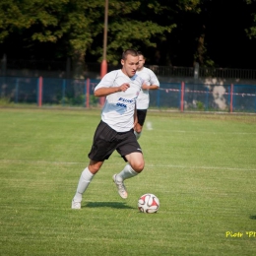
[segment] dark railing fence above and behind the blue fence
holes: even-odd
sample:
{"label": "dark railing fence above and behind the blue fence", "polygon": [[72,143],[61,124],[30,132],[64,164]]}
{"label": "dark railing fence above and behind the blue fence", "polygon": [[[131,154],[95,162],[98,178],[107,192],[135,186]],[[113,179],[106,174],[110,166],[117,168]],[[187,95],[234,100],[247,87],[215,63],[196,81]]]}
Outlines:
{"label": "dark railing fence above and behind the blue fence", "polygon": [[[100,63],[86,63],[85,71],[98,74]],[[211,68],[195,65],[194,67],[175,67],[146,65],[157,76],[162,77],[187,77],[187,78],[221,78],[221,79],[247,79],[256,80],[256,69],[229,69]],[[107,65],[107,71],[121,68],[121,65]],[[23,76],[38,77],[47,76],[52,78],[73,78],[74,67],[68,58],[66,61],[47,60],[17,60],[7,59],[4,55],[0,60],[0,76]],[[46,75],[45,75],[46,74]]]}

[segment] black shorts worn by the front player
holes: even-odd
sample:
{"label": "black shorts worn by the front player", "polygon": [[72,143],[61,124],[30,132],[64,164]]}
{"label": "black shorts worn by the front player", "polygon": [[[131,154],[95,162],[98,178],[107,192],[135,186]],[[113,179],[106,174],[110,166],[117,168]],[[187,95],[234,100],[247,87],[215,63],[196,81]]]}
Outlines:
{"label": "black shorts worn by the front player", "polygon": [[131,153],[142,153],[133,129],[118,133],[101,120],[96,127],[93,146],[88,157],[90,160],[108,160],[115,150],[124,160],[126,160],[125,156]]}

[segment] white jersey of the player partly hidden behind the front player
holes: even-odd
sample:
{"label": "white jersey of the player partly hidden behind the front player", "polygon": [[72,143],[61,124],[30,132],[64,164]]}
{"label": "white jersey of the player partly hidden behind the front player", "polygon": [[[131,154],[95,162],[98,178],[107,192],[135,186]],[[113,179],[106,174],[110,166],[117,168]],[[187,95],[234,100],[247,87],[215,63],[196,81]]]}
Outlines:
{"label": "white jersey of the player partly hidden behind the front player", "polygon": [[[160,81],[151,69],[143,67],[140,71],[137,71],[136,74],[140,76],[147,85],[160,87]],[[149,90],[142,90],[137,98],[137,109],[148,109],[149,105],[150,92]]]}

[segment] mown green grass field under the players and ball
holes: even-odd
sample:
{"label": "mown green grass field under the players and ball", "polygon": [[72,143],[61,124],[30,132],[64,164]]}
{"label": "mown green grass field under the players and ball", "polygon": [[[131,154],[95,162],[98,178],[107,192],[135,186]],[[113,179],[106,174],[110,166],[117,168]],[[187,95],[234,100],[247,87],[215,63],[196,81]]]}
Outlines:
{"label": "mown green grass field under the players and ball", "polygon": [[[0,255],[255,255],[256,115],[149,112],[121,199],[114,153],[71,210],[99,110],[0,108]],[[142,214],[138,198],[160,198]]]}

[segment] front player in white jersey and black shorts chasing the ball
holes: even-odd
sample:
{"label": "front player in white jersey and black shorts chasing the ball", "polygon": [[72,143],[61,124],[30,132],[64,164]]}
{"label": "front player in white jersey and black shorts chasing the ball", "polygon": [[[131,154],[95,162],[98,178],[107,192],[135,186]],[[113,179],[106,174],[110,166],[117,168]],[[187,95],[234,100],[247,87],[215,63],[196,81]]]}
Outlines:
{"label": "front player in white jersey and black shorts chasing the ball", "polygon": [[124,180],[139,174],[144,168],[141,147],[134,136],[137,121],[136,98],[139,96],[143,79],[137,74],[139,54],[127,49],[122,54],[122,68],[107,73],[96,86],[95,96],[106,96],[101,111],[101,120],[96,127],[93,146],[88,157],[89,165],[82,171],[72,209],[81,209],[82,196],[104,160],[116,150],[126,161],[124,168],[112,176],[119,195],[128,194]]}

